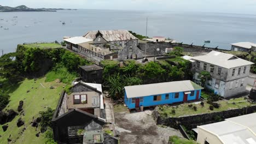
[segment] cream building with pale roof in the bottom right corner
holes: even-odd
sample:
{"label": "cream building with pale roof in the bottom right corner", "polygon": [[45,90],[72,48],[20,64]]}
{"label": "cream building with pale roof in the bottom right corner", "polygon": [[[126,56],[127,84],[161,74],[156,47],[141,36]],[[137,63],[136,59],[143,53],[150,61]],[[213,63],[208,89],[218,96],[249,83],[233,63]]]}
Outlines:
{"label": "cream building with pale roof in the bottom right corner", "polygon": [[225,119],[223,122],[197,126],[201,144],[255,144],[256,113]]}

